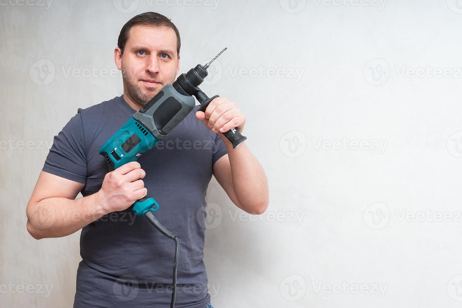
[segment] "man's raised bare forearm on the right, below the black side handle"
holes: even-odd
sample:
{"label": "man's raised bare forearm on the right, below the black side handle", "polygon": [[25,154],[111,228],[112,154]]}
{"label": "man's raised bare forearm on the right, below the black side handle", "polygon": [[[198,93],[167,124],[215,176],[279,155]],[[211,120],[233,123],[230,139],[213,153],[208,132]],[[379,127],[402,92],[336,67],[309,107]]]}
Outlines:
{"label": "man's raised bare forearm on the right, below the black side handle", "polygon": [[236,149],[224,140],[231,165],[234,193],[244,211],[261,214],[269,203],[268,181],[257,159],[245,142]]}

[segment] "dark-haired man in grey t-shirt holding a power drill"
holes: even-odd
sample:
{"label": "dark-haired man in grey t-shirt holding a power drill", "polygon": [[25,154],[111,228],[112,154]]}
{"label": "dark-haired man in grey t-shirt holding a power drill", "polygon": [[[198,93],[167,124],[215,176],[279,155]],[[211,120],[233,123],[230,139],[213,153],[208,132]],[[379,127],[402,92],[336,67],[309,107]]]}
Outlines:
{"label": "dark-haired man in grey t-shirt holding a power drill", "polygon": [[[76,308],[169,306],[174,242],[129,209],[148,191],[160,205],[154,215],[181,245],[178,308],[212,307],[202,260],[212,174],[243,211],[261,214],[268,206],[259,163],[245,143],[233,149],[221,133],[233,127],[242,132],[245,124],[236,103],[224,97],[205,113],[196,106],[157,149],[108,173],[99,148],[175,81],[179,52],[180,36],[170,19],[146,12],[129,20],[114,51],[123,95],[78,109],[55,136],[39,175],[27,205],[29,233],[41,239],[82,229]],[[84,197],[75,199],[79,192]]]}

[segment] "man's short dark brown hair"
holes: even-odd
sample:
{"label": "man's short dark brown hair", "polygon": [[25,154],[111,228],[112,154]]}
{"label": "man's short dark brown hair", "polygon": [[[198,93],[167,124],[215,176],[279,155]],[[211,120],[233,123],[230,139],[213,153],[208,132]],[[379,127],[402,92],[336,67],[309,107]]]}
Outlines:
{"label": "man's short dark brown hair", "polygon": [[128,40],[128,32],[134,25],[168,27],[173,29],[176,33],[176,53],[177,55],[180,54],[180,32],[178,32],[178,29],[176,29],[175,24],[171,22],[170,18],[166,18],[164,15],[156,12],[144,12],[138,14],[123,25],[122,30],[120,30],[119,39],[117,40],[117,46],[121,49],[122,54],[123,49],[125,48],[125,43]]}

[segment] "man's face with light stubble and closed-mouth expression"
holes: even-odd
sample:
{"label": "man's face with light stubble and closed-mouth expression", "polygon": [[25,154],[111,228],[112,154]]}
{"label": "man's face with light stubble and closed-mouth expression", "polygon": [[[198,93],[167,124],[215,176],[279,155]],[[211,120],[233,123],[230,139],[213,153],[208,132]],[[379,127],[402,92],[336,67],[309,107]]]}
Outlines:
{"label": "man's face with light stubble and closed-mouth expression", "polygon": [[117,49],[114,57],[122,70],[124,93],[134,103],[146,105],[164,85],[175,81],[180,57],[173,29],[135,25],[129,31],[122,56]]}

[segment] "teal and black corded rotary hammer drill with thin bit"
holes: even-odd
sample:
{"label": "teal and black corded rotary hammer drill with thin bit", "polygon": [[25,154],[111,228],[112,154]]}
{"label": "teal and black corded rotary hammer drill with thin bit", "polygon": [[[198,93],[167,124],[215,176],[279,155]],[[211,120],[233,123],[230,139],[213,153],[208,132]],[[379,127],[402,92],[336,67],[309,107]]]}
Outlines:
{"label": "teal and black corded rotary hammer drill with thin bit", "polygon": [[[100,149],[108,164],[109,171],[136,161],[144,152],[151,150],[174,129],[194,109],[197,98],[201,106],[199,111],[206,110],[208,104],[218,95],[207,97],[199,89],[199,85],[207,77],[207,68],[226,50],[223,49],[209,63],[202,66],[198,64],[186,74],[180,75],[173,84],[165,85],[159,93],[153,97],[139,111],[135,112]],[[240,145],[247,137],[241,135],[236,128],[223,133],[231,141],[233,148]],[[145,216],[154,227],[162,234],[175,242],[175,260],[173,266],[172,300],[170,308],[175,305],[176,295],[176,272],[178,266],[178,254],[180,244],[176,235],[165,229],[152,215],[152,211],[159,209],[158,203],[152,197],[144,197],[137,200],[131,207],[137,216]]]}

